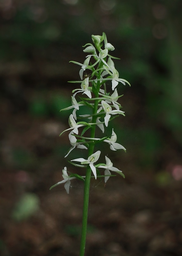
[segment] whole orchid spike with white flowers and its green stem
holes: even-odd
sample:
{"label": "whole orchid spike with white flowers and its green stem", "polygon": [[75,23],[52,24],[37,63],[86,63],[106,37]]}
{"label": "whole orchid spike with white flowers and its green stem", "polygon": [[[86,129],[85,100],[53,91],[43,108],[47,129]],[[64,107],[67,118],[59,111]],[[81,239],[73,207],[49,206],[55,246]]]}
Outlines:
{"label": "whole orchid spike with white flowers and its green stem", "polygon": [[[122,171],[120,171],[116,167],[113,167],[113,163],[107,156],[105,156],[106,164],[95,164],[98,161],[100,154],[102,154],[100,150],[95,152],[95,145],[96,143],[99,144],[106,142],[109,144],[111,150],[115,151],[118,149],[123,149],[124,151],[126,151],[126,149],[122,145],[116,142],[117,136],[114,131],[112,131],[112,134],[110,136],[104,136],[101,139],[95,138],[96,128],[99,128],[104,133],[106,127],[111,122],[111,120],[113,120],[113,118],[119,115],[125,116],[124,112],[120,110],[120,103],[117,102],[117,100],[123,95],[118,95],[116,86],[119,84],[119,82],[121,82],[121,84],[123,85],[129,83],[125,79],[119,78],[119,73],[115,69],[114,62],[112,60],[118,58],[115,58],[109,54],[109,51],[114,50],[114,46],[107,42],[106,34],[103,33],[102,36],[92,35],[92,41],[93,44],[88,43],[84,45],[84,47],[86,47],[84,49],[84,52],[89,52],[89,55],[86,56],[83,64],[76,61],[70,61],[76,65],[81,66],[79,76],[82,80],[69,82],[78,83],[80,84],[81,88],[73,90],[72,93],[74,94],[71,97],[72,106],[61,110],[63,111],[73,108],[73,113],[69,116],[70,128],[62,131],[60,134],[61,136],[63,132],[70,131],[69,140],[71,148],[69,149],[65,157],[67,157],[69,153],[75,148],[88,149],[87,159],[80,157],[68,161],[76,168],[83,167],[81,169],[82,171],[86,170],[84,172],[85,175],[81,176],[76,173],[70,173],[67,171],[67,167],[64,167],[62,171],[63,180],[57,182],[51,187],[54,188],[55,186],[64,183],[66,192],[69,194],[71,180],[78,179],[84,181],[84,204],[80,256],[84,256],[85,253],[91,178],[104,178],[104,181],[106,183],[109,177],[115,176],[111,174],[110,171],[120,174],[122,177],[124,177]],[[89,73],[91,72],[91,75],[89,75],[89,77],[85,76],[85,78],[83,78],[83,74],[87,69],[89,70]],[[80,99],[76,100],[76,97],[78,97],[78,95]],[[82,97],[82,95],[84,96]],[[79,108],[82,108],[82,106],[91,108],[92,114],[89,114],[90,112],[88,112],[87,115],[76,115],[76,111],[79,110]],[[111,115],[114,116],[111,117]],[[87,118],[88,122],[76,122],[77,119],[82,118]],[[82,132],[80,133],[81,129]],[[85,132],[87,132],[87,130],[90,130],[90,136],[85,137],[83,135]],[[79,164],[75,162],[79,162]],[[98,175],[98,168],[100,168],[101,170],[104,169],[104,175]],[[70,175],[68,173],[70,173]]]}

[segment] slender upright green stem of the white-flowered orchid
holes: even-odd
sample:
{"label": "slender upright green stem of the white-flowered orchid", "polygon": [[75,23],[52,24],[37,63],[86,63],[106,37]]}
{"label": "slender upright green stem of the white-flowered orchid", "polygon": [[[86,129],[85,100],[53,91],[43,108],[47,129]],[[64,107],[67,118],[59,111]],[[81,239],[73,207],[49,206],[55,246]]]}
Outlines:
{"label": "slender upright green stem of the white-flowered orchid", "polygon": [[[100,72],[99,72],[100,77]],[[100,89],[100,82],[97,82],[97,91],[99,92]],[[98,95],[96,95],[98,97]],[[95,100],[93,115],[92,116],[92,123],[96,123],[98,109],[98,100]],[[91,138],[95,138],[95,127],[96,124],[93,124],[91,127]],[[88,148],[88,156],[94,153],[94,142],[89,145]],[[84,256],[85,253],[85,243],[86,243],[86,234],[87,234],[87,219],[88,219],[88,206],[89,206],[89,190],[90,190],[90,180],[91,180],[91,168],[88,165],[86,170],[86,177],[84,182],[84,205],[83,205],[83,217],[82,217],[82,234],[81,234],[81,246],[80,246],[80,256]]]}

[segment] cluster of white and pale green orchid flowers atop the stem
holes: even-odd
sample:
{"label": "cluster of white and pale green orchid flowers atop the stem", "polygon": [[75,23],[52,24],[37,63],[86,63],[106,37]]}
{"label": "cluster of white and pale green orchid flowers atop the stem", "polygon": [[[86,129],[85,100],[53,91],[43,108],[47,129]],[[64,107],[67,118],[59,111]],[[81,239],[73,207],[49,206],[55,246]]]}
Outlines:
{"label": "cluster of white and pale green orchid flowers atop the stem", "polygon": [[[92,35],[92,41],[94,45],[89,43],[83,46],[83,47],[86,47],[84,49],[84,52],[90,53],[89,55],[86,56],[86,59],[83,64],[76,61],[70,61],[72,63],[75,63],[81,66],[81,69],[79,71],[81,81],[70,81],[72,83],[80,83],[81,88],[73,90],[74,94],[71,97],[72,106],[62,109],[62,110],[68,110],[73,108],[73,113],[69,116],[70,128],[63,131],[63,132],[66,132],[71,130],[71,132],[69,133],[69,140],[72,147],[69,149],[65,157],[67,157],[69,153],[76,147],[82,148],[82,149],[88,149],[91,143],[96,143],[96,142],[98,143],[99,141],[100,142],[104,141],[108,143],[110,145],[111,150],[117,150],[117,149],[126,150],[122,145],[120,145],[119,143],[116,143],[117,136],[114,131],[112,131],[112,135],[110,138],[106,136],[98,139],[98,138],[88,138],[83,136],[84,132],[86,132],[90,128],[92,129],[93,126],[96,126],[96,125],[98,125],[98,127],[104,133],[105,131],[104,124],[107,127],[109,121],[111,121],[111,119],[114,118],[114,117],[111,118],[111,115],[119,114],[124,116],[124,112],[120,110],[121,106],[117,102],[119,97],[121,97],[122,95],[118,96],[116,86],[118,85],[119,82],[121,82],[124,85],[125,85],[125,82],[128,83],[125,79],[119,78],[119,73],[115,69],[114,62],[112,60],[112,59],[118,59],[118,58],[115,58],[108,53],[109,51],[113,51],[114,47],[112,44],[107,43],[107,38],[105,33],[103,33],[102,36]],[[103,45],[104,45],[104,49],[101,49]],[[99,54],[97,54],[97,51]],[[91,63],[91,60],[92,60],[91,58],[95,61],[94,64]],[[90,70],[91,75],[89,77],[88,76],[85,77],[83,80],[83,73],[85,70]],[[112,83],[112,90],[113,90],[112,94],[106,91],[106,82],[108,81],[111,81]],[[101,87],[104,87],[104,88],[101,88]],[[85,94],[84,97],[87,97],[87,98],[79,97],[81,101],[77,102],[75,99],[77,93],[82,93],[82,95]],[[85,118],[85,117],[88,118],[89,120],[88,122],[82,122],[82,121],[76,122],[77,120],[76,110],[78,110],[79,107],[81,106],[87,106],[88,108],[92,109],[92,115],[79,116],[79,118]],[[103,121],[100,121],[100,118],[102,118]],[[78,135],[79,127],[84,127],[81,132],[81,135]],[[101,152],[98,150],[97,152],[88,156],[88,159],[76,158],[71,160],[70,163],[72,163],[72,161],[80,162],[80,164],[72,163],[73,165],[79,166],[79,167],[87,167],[89,165],[89,168],[91,168],[95,179],[97,178],[97,171],[96,171],[97,168],[104,168],[105,172],[102,177],[105,178],[105,182],[111,176],[110,171],[117,172],[124,177],[124,174],[119,169],[117,169],[116,167],[113,167],[113,163],[107,156],[105,156],[106,164],[102,163],[102,164],[95,165],[95,162],[98,161],[100,153]],[[85,178],[85,176],[80,176],[78,174],[73,174],[73,173],[68,175],[66,167],[64,167],[64,169],[62,170],[62,173],[63,173],[62,176],[64,180],[56,183],[52,187],[55,187],[61,183],[65,183],[64,186],[67,193],[69,193],[70,180],[76,179],[76,178],[80,180],[84,180]]]}

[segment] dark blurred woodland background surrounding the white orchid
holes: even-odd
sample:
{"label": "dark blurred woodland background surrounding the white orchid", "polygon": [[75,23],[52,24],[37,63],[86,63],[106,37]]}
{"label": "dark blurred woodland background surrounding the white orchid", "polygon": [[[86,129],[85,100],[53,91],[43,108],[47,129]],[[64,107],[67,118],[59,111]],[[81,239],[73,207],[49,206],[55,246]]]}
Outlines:
{"label": "dark blurred woodland background surrounding the white orchid", "polygon": [[86,255],[182,255],[181,27],[181,0],[0,0],[2,256],[79,254],[83,184],[49,188],[64,166],[81,174],[64,158],[71,111],[60,109],[79,80],[69,61],[102,32],[131,84],[117,87],[126,116],[113,121],[127,153],[102,149],[126,179],[91,183]]}

